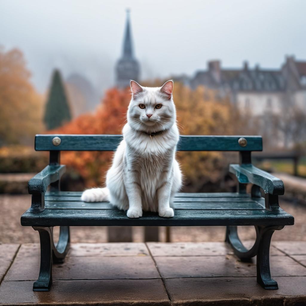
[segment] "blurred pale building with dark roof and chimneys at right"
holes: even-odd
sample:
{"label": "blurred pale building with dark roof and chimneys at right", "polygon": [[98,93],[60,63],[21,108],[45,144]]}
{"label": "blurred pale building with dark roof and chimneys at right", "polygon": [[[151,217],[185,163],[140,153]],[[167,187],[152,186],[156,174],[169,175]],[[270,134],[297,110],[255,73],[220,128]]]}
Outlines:
{"label": "blurred pale building with dark roof and chimneys at right", "polygon": [[306,62],[286,57],[281,69],[254,68],[244,62],[241,69],[224,69],[218,60],[209,61],[207,70],[183,79],[192,89],[199,85],[229,96],[241,112],[261,116],[267,111],[280,114],[284,107],[298,106],[306,111]]}

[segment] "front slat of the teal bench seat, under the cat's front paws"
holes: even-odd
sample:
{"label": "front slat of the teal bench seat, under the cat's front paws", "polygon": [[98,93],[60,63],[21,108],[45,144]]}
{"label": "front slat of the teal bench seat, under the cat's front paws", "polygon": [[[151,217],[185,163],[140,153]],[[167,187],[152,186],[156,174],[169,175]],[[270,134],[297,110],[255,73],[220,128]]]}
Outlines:
{"label": "front slat of the teal bench seat, under the cat's front paws", "polygon": [[294,219],[281,208],[267,210],[196,210],[177,209],[173,218],[144,212],[142,218],[130,219],[125,211],[113,209],[31,209],[21,216],[23,226],[229,226],[293,225]]}

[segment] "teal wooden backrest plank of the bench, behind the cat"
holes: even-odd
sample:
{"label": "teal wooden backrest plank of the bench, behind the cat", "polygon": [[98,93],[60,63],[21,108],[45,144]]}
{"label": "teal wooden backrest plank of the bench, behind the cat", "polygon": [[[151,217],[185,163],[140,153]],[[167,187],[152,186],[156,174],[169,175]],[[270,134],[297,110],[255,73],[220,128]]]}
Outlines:
{"label": "teal wooden backrest plank of the bench, behind the cat", "polygon": [[[58,136],[61,144],[54,146]],[[244,137],[248,144],[241,147],[238,139]],[[36,151],[115,151],[121,135],[36,135]],[[262,151],[261,136],[180,136],[178,151]]]}

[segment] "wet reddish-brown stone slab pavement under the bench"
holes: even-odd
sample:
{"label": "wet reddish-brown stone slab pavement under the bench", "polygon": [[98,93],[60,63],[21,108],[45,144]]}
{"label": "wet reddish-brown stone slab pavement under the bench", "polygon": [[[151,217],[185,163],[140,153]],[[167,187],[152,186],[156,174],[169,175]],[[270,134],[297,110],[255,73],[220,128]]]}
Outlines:
{"label": "wet reddish-brown stone slab pavement under the bench", "polygon": [[223,242],[77,243],[54,264],[51,290],[33,292],[39,245],[0,244],[0,304],[305,306],[306,242],[272,241],[270,263],[278,290]]}

